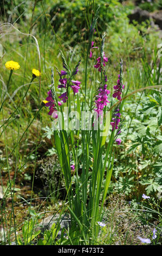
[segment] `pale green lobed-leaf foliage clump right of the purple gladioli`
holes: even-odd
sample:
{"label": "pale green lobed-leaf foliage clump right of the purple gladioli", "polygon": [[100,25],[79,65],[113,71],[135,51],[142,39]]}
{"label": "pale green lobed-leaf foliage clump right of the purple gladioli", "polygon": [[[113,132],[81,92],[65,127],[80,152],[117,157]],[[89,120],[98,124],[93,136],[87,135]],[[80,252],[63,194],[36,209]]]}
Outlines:
{"label": "pale green lobed-leaf foliage clump right of the purple gladioli", "polygon": [[120,160],[114,161],[115,183],[111,184],[111,190],[125,193],[128,198],[132,198],[133,193],[139,198],[142,192],[157,194],[162,181],[161,93],[142,95],[136,113],[135,105],[130,103],[124,107],[126,115],[133,115],[133,120],[127,130],[129,118],[126,117],[122,138],[128,142],[120,153]]}

